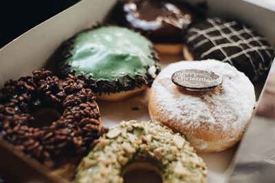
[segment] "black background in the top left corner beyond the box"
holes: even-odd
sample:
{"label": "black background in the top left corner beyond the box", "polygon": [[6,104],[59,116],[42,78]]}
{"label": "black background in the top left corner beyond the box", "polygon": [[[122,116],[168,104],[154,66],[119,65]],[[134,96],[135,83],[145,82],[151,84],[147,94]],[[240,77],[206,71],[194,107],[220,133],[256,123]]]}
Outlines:
{"label": "black background in the top left corner beyond the box", "polygon": [[[79,0],[1,0],[0,48]],[[102,0],[104,1],[104,0]]]}

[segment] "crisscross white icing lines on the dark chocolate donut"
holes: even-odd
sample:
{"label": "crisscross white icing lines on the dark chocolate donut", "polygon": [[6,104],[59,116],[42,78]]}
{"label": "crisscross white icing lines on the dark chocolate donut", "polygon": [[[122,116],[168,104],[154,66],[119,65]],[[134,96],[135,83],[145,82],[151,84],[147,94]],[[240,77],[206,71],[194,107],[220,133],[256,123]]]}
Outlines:
{"label": "crisscross white icing lines on the dark chocolate donut", "polygon": [[[186,42],[191,42],[196,38],[199,38],[199,36],[201,35],[204,36],[205,38],[203,40],[200,40],[194,45],[195,49],[198,49],[201,45],[206,44],[207,42],[212,42],[214,47],[202,53],[201,58],[204,58],[205,56],[212,53],[213,51],[220,50],[225,56],[225,58],[221,60],[221,62],[230,62],[230,64],[232,64],[232,60],[234,58],[245,55],[248,58],[248,60],[250,60],[250,64],[253,66],[255,74],[259,73],[259,71],[261,70],[267,71],[270,68],[270,66],[265,66],[266,60],[264,59],[264,56],[263,56],[263,53],[261,53],[261,50],[265,51],[265,53],[267,53],[267,56],[271,57],[270,51],[268,50],[272,50],[273,48],[268,45],[263,45],[261,41],[263,40],[266,41],[266,39],[263,36],[256,36],[254,32],[252,32],[252,29],[248,29],[248,27],[246,27],[245,25],[242,26],[243,29],[240,29],[240,30],[234,29],[234,25],[237,25],[236,21],[223,23],[221,25],[217,25],[216,23],[216,22],[222,22],[221,19],[219,18],[208,18],[206,19],[206,21],[212,24],[212,27],[209,27],[207,29],[197,29],[195,27],[191,27],[188,30],[188,32],[195,32],[195,34],[188,37],[186,40]],[[230,30],[230,32],[225,33],[224,29],[228,29]],[[220,35],[210,36],[210,33],[214,31],[218,31]],[[245,38],[242,34],[248,34],[251,37]],[[239,40],[238,41],[232,40],[233,36],[236,36],[237,38],[239,38]],[[222,39],[227,39],[228,42],[219,45],[218,41]],[[251,42],[253,41],[258,43],[259,46],[251,45]],[[245,49],[243,45],[247,45],[248,48]],[[228,53],[226,53],[223,49],[226,47],[239,47],[241,51],[239,53],[234,53],[231,56],[228,56]],[[255,60],[253,60],[251,54],[249,53],[251,51],[256,51],[256,53],[258,53],[258,55],[261,57],[261,60],[257,61],[257,62],[261,62],[259,63],[259,69],[256,69],[255,67]],[[256,75],[254,76],[254,79],[256,80]]]}

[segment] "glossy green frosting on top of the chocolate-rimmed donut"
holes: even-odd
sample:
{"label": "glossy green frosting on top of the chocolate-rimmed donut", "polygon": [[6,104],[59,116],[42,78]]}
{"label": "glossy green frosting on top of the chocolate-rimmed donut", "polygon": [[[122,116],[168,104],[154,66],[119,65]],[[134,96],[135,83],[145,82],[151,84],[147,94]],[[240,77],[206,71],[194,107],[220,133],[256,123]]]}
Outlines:
{"label": "glossy green frosting on top of the chocolate-rimmed donut", "polygon": [[64,64],[76,76],[86,74],[95,80],[113,81],[124,75],[146,75],[148,68],[157,64],[151,56],[152,43],[123,27],[91,29],[72,42],[72,56]]}

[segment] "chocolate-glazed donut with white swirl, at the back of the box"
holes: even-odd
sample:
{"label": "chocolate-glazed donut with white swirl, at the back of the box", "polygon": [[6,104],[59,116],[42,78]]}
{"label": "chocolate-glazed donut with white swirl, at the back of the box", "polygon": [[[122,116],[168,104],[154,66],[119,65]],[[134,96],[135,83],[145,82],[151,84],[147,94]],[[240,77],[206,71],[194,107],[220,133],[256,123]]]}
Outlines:
{"label": "chocolate-glazed donut with white swirl, at the back of the box", "polygon": [[125,0],[118,22],[136,29],[155,43],[162,54],[182,54],[183,35],[195,19],[195,10],[183,2]]}

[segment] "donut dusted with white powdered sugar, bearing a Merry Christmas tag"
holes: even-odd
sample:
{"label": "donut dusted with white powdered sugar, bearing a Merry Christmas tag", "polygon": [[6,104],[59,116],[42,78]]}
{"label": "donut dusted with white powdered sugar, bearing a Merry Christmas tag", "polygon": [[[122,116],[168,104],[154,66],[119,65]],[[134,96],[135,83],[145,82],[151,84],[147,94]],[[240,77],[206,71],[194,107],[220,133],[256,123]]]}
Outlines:
{"label": "donut dusted with white powdered sugar, bearing a Merry Christmas tag", "polygon": [[[171,77],[181,69],[185,69],[183,74],[214,73],[221,80],[215,84],[216,79],[208,75],[184,77],[188,82],[210,81],[216,87],[206,88],[204,82],[190,82],[191,89],[179,87]],[[230,64],[217,60],[181,61],[159,73],[151,88],[148,110],[152,121],[179,132],[197,151],[213,152],[239,142],[252,117],[254,103],[254,86]]]}

